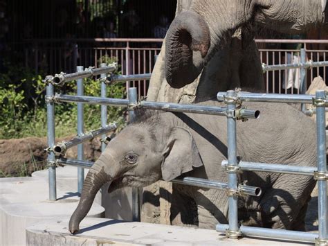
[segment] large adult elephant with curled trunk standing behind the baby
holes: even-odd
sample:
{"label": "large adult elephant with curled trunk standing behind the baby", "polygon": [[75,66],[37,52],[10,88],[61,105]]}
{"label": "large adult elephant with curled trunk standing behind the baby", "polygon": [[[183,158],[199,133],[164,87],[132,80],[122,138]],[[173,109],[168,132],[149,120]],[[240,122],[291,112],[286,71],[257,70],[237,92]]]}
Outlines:
{"label": "large adult elephant with curled trunk standing behind the baby", "polygon": [[306,32],[327,23],[327,9],[326,0],[180,0],[148,96],[192,102],[234,87],[263,89],[255,26]]}

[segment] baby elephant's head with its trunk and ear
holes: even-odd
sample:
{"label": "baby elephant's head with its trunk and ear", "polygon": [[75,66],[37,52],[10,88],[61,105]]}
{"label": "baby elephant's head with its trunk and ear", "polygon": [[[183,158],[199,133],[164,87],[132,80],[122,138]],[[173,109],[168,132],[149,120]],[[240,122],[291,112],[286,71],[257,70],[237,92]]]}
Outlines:
{"label": "baby elephant's head with its trunk and ear", "polygon": [[69,230],[78,232],[95,194],[107,182],[111,182],[109,192],[125,186],[147,186],[162,178],[172,180],[202,165],[188,129],[145,122],[128,125],[90,168]]}

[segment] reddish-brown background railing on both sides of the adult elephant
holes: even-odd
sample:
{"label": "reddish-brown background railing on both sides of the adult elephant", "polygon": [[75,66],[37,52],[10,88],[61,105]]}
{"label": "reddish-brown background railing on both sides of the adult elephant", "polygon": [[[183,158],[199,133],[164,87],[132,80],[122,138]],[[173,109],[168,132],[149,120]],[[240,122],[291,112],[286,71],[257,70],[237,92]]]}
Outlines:
{"label": "reddish-brown background railing on both sides of the adult elephant", "polygon": [[[301,62],[301,53],[295,49],[281,49],[282,44],[302,44],[306,53],[305,60],[322,62],[328,60],[328,40],[295,39],[256,39],[261,62],[269,66]],[[24,45],[26,67],[35,71],[43,70],[48,74],[58,71],[72,73],[77,64],[84,67],[98,67],[106,60],[116,60],[122,75],[152,73],[155,55],[161,51],[163,39],[34,39]],[[292,60],[290,58],[293,58]],[[293,70],[266,71],[264,73],[267,93],[300,94],[300,88],[288,91],[283,88]],[[309,68],[305,85],[313,78],[328,76],[328,67]],[[300,76],[298,76],[300,79]],[[129,86],[138,87],[138,95],[145,96],[149,80],[131,82]]]}

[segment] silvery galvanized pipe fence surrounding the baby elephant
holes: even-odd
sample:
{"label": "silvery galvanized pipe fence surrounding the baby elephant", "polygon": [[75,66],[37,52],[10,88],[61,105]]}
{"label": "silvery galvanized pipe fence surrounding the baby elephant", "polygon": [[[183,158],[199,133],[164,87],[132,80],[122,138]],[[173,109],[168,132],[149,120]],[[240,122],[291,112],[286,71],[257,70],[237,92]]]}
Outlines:
{"label": "silvery galvanized pipe fence surrounding the baby elephant", "polygon": [[[284,67],[320,67],[322,64],[288,64],[281,65]],[[185,177],[174,179],[173,182],[185,185],[200,186],[205,188],[217,188],[227,191],[229,209],[228,209],[228,225],[217,225],[217,231],[226,233],[229,238],[238,238],[240,236],[259,236],[264,238],[275,238],[283,240],[298,240],[303,242],[312,242],[318,245],[325,245],[328,242],[328,225],[327,225],[327,160],[326,160],[326,135],[325,135],[325,107],[328,107],[328,100],[325,91],[317,91],[316,96],[311,95],[283,95],[283,94],[254,94],[243,93],[235,91],[219,92],[217,99],[224,101],[226,107],[213,107],[213,106],[200,106],[200,105],[181,105],[176,103],[160,103],[149,101],[138,101],[137,89],[129,88],[128,99],[107,98],[106,84],[107,73],[111,73],[116,69],[116,66],[106,67],[102,64],[100,69],[86,69],[83,71],[82,67],[78,67],[78,72],[73,74],[48,76],[46,78],[46,103],[47,103],[47,121],[48,121],[48,170],[49,170],[49,199],[56,200],[56,176],[55,167],[57,164],[77,166],[78,171],[78,189],[82,190],[84,169],[92,166],[91,161],[83,160],[83,147],[82,143],[96,135],[102,134],[102,151],[106,143],[106,132],[116,128],[115,125],[107,125],[107,106],[125,106],[129,109],[130,121],[133,121],[134,109],[136,107],[144,107],[147,109],[159,109],[170,112],[190,112],[196,114],[215,114],[219,116],[226,116],[228,121],[228,161],[223,161],[222,166],[226,166],[228,173],[228,183],[221,183],[208,179],[199,179],[194,177]],[[267,70],[280,69],[279,67],[265,67]],[[101,75],[102,78],[102,92],[101,97],[83,96],[83,82],[82,78],[88,76]],[[140,77],[136,76],[135,80]],[[78,95],[60,95],[54,93],[54,86],[58,83],[69,82],[70,80],[78,79]],[[133,78],[125,78],[125,76],[116,76],[117,81],[134,80]],[[112,82],[115,79],[112,77]],[[246,161],[237,161],[237,130],[236,121],[241,118],[258,118],[259,112],[257,110],[248,109],[243,111],[236,107],[237,103],[243,101],[255,102],[269,102],[269,103],[311,103],[316,107],[316,124],[317,124],[317,152],[318,152],[318,166],[314,167],[300,167],[294,168],[293,166],[280,165],[280,164],[265,164],[253,163]],[[78,136],[71,141],[55,144],[55,118],[54,118],[54,104],[58,102],[78,103]],[[101,105],[101,118],[102,128],[84,134],[83,132],[83,104],[100,104]],[[237,112],[238,111],[238,112]],[[239,118],[236,118],[239,115]],[[78,159],[65,159],[63,158],[64,152],[72,146],[78,145]],[[237,197],[239,194],[255,195],[261,193],[259,187],[245,186],[238,184],[237,171],[241,170],[257,170],[274,173],[290,173],[297,175],[312,175],[318,181],[318,219],[319,219],[319,233],[307,233],[303,231],[288,231],[280,229],[266,229],[257,227],[239,226],[237,218]],[[134,213],[134,220],[139,220],[139,199],[138,189],[135,189],[132,195],[132,211]]]}

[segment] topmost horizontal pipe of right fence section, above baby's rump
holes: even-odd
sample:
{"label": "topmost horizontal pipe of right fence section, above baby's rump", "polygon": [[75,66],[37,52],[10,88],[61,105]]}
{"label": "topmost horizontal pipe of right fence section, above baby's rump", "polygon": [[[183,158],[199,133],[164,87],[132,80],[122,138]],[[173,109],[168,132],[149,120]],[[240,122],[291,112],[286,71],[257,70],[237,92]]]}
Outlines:
{"label": "topmost horizontal pipe of right fence section, above baby's rump", "polygon": [[[217,100],[224,102],[226,100],[226,92],[219,92]],[[266,94],[266,93],[248,93],[238,92],[237,100],[243,102],[270,102],[270,103],[310,103],[312,104],[313,95],[304,94]]]}

